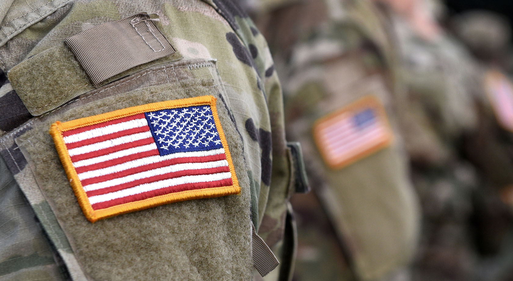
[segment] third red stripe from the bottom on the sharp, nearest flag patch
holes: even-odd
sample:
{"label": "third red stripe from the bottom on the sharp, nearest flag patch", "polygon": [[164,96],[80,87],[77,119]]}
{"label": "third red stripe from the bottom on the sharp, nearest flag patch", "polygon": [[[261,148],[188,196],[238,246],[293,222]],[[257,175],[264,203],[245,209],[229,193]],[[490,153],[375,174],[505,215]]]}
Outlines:
{"label": "third red stripe from the bottom on the sharp, nearest flag patch", "polygon": [[203,163],[203,162],[212,162],[212,161],[219,161],[219,160],[226,160],[225,154],[218,154],[218,155],[211,155],[211,156],[202,156],[202,157],[182,157],[182,158],[174,158],[169,159],[157,163],[152,163],[148,165],[143,165],[139,167],[133,167],[130,169],[126,169],[119,172],[114,172],[109,175],[90,178],[82,180],[82,186],[98,183],[98,182],[104,182],[116,178],[126,177],[128,175],[136,174],[137,172],[147,171],[151,169],[166,167],[173,164],[182,164],[182,163]]}

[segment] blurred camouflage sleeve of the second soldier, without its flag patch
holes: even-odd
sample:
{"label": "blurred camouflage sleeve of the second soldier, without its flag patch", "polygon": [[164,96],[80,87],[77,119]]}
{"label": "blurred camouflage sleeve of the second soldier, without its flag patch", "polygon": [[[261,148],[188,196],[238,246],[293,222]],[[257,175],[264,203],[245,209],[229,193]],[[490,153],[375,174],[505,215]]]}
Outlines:
{"label": "blurred camouflage sleeve of the second soldier, without its flag patch", "polygon": [[[268,2],[262,2],[267,5]],[[266,8],[267,6],[264,6]],[[297,197],[299,249],[294,280],[407,279],[419,206],[409,181],[394,105],[393,42],[366,1],[302,1],[257,13],[285,89],[287,136],[303,146],[312,190]],[[318,120],[355,101],[384,105],[391,144],[331,168],[315,145]],[[331,228],[344,255],[333,247]]]}

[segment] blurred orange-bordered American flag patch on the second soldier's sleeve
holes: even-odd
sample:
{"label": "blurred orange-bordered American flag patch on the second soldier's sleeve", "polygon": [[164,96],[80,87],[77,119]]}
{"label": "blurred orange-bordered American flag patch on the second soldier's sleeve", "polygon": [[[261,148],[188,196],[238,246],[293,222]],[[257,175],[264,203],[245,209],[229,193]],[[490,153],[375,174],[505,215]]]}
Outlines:
{"label": "blurred orange-bordered American flag patch on the second soldier's sleeve", "polygon": [[369,156],[392,140],[385,109],[372,96],[315,122],[313,136],[324,161],[333,169]]}

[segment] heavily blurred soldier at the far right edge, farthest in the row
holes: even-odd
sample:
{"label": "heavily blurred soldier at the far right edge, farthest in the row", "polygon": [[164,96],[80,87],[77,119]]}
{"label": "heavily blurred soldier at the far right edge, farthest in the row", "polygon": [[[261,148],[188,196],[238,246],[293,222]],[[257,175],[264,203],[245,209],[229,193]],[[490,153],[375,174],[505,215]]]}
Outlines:
{"label": "heavily blurred soldier at the far right edge, farthest in the row", "polygon": [[[480,81],[484,93],[477,95],[479,125],[467,136],[466,153],[487,176],[487,184],[511,210],[513,206],[513,84],[511,73],[511,30],[500,15],[487,11],[471,11],[452,20],[452,28],[478,58]],[[486,154],[479,153],[479,150]],[[498,201],[497,199],[495,201]],[[488,209],[499,212],[497,202],[488,202]],[[497,223],[496,223],[497,224]],[[481,234],[488,237],[479,250],[488,254],[483,266],[484,278],[508,280],[513,278],[513,227],[507,233],[490,227]],[[502,236],[506,238],[500,240]],[[492,239],[490,239],[490,237]],[[502,243],[501,243],[502,242]],[[491,253],[491,254],[490,254]]]}

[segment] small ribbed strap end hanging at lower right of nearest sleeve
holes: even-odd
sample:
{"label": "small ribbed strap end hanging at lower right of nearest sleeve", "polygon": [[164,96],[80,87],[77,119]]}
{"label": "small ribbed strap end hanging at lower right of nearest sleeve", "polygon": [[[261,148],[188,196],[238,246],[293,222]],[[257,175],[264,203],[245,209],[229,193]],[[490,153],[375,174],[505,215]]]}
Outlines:
{"label": "small ribbed strap end hanging at lower right of nearest sleeve", "polygon": [[262,237],[257,234],[257,229],[255,226],[251,224],[253,228],[253,266],[257,269],[257,271],[264,277],[273,269],[275,269],[280,262],[278,262],[278,258],[272,253],[269,246],[265,244]]}

